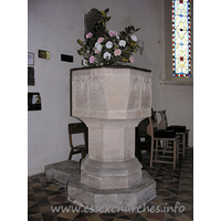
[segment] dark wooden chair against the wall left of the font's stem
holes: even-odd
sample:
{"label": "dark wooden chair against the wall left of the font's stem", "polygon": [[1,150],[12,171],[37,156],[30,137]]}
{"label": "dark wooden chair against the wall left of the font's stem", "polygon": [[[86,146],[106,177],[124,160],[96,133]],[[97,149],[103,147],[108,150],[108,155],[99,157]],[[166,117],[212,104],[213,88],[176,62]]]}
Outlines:
{"label": "dark wooden chair against the wall left of the font's stem", "polygon": [[[73,145],[73,135],[74,134],[84,134],[84,144],[82,145]],[[82,158],[85,157],[87,154],[87,127],[84,123],[73,123],[69,124],[69,140],[70,140],[70,147],[71,151],[69,155],[69,160],[72,159],[72,155],[82,154]]]}

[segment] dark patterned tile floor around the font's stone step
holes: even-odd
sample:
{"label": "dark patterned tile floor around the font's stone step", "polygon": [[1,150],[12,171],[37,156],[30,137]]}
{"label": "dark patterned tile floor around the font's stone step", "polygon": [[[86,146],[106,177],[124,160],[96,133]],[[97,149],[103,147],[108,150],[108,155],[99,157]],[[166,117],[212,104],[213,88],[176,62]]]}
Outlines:
{"label": "dark patterned tile floor around the font's stone step", "polygon": [[[75,206],[66,200],[66,189],[64,187],[46,181],[44,173],[29,177],[28,220],[193,220],[193,149],[187,149],[186,158],[178,162],[175,170],[172,170],[172,165],[167,164],[155,164],[152,168],[144,164],[143,169],[148,169],[157,181],[157,197],[146,204],[146,209],[139,208],[139,211],[136,212],[94,213],[92,211],[73,211],[72,209]],[[55,206],[57,206],[57,211],[52,211]],[[66,211],[62,211],[62,208]]]}

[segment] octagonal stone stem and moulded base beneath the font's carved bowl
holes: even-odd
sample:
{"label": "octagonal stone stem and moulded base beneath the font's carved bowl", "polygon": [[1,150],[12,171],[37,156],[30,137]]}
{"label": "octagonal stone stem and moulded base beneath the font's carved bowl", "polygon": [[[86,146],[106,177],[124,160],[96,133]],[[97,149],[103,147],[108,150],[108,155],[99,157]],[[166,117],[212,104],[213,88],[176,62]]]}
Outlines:
{"label": "octagonal stone stem and moulded base beneath the font's carved bowl", "polygon": [[85,119],[88,155],[83,159],[81,181],[99,189],[128,188],[141,180],[141,165],[135,158],[135,127],[138,119]]}

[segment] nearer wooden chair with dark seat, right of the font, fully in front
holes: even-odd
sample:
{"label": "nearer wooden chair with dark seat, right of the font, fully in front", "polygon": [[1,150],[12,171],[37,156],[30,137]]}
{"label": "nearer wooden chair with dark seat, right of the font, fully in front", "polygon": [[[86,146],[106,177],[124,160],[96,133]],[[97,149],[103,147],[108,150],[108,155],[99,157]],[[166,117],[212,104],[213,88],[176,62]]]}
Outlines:
{"label": "nearer wooden chair with dark seat, right of the font, fully in front", "polygon": [[152,162],[166,162],[172,164],[175,169],[178,159],[179,136],[172,129],[158,129],[158,123],[154,115],[149,117],[150,124],[147,128],[151,135],[150,167],[152,167]]}

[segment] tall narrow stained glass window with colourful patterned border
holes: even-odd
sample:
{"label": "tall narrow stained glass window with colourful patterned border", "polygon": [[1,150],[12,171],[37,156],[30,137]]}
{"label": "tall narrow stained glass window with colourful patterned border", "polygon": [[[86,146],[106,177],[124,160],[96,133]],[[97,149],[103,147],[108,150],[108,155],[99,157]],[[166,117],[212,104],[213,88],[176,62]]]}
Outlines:
{"label": "tall narrow stained glass window with colourful patterned border", "polygon": [[191,76],[191,0],[172,0],[172,76]]}

